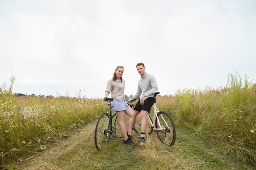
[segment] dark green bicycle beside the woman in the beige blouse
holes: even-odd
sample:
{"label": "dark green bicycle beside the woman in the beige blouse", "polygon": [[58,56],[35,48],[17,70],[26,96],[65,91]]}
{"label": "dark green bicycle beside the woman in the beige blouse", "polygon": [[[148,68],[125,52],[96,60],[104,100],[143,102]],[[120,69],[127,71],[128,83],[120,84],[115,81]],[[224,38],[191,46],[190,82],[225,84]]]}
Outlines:
{"label": "dark green bicycle beside the woman in the beige blouse", "polygon": [[[112,98],[106,98],[106,102],[108,103],[108,110],[105,113],[102,113],[97,121],[95,133],[94,133],[94,142],[97,150],[102,150],[109,141],[110,136],[116,137],[116,127],[119,126],[119,122],[117,122],[117,115],[112,116]],[[113,120],[112,120],[113,119]],[[113,124],[112,124],[113,123]],[[119,130],[120,131],[120,130]]]}

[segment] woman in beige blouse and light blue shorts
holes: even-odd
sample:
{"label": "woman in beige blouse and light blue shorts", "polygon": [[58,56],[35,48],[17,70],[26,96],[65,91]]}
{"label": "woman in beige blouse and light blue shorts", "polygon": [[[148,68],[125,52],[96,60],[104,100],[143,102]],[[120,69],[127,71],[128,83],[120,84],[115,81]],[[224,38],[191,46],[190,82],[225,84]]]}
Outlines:
{"label": "woman in beige blouse and light blue shorts", "polygon": [[[107,82],[105,97],[103,98],[103,100],[105,101],[105,99],[108,98],[108,95],[111,93],[111,97],[113,98],[113,102],[111,103],[112,110],[115,111],[117,113],[117,116],[119,117],[120,130],[124,136],[124,144],[135,145],[135,143],[132,142],[132,128],[133,123],[135,122],[136,119],[136,113],[126,103],[126,100],[124,98],[125,80],[122,78],[123,73],[124,67],[117,66],[112,79],[108,80]],[[127,133],[125,124],[125,114],[129,115]]]}

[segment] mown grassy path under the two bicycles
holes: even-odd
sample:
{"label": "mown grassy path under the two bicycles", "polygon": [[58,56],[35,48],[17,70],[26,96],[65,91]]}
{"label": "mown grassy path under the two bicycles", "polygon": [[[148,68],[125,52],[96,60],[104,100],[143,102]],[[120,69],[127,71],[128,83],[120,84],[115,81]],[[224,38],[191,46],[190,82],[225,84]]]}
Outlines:
{"label": "mown grassy path under the two bicycles", "polygon": [[[137,148],[113,138],[99,152],[94,146],[91,124],[66,139],[61,139],[43,152],[13,165],[18,170],[252,170],[239,165],[230,156],[215,152],[218,148],[191,135],[191,131],[176,127],[173,147],[159,143],[156,135],[147,136],[147,143]],[[139,136],[134,134],[135,140]]]}

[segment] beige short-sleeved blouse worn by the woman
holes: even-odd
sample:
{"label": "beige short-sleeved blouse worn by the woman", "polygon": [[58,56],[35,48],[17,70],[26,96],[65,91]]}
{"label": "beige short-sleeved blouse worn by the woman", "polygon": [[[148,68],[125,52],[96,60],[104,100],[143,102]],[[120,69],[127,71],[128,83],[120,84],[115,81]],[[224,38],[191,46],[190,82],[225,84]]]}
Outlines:
{"label": "beige short-sleeved blouse worn by the woman", "polygon": [[[119,101],[124,98],[124,84],[125,80],[123,81],[113,81],[112,79],[108,80],[106,91],[111,92],[111,97],[113,99],[119,99]],[[125,98],[124,98],[125,100]]]}

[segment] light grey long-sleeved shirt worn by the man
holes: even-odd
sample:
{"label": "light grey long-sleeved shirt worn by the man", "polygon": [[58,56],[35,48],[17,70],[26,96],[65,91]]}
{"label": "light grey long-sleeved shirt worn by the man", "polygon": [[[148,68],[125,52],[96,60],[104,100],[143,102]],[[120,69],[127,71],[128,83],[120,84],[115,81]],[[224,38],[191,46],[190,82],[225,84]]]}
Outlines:
{"label": "light grey long-sleeved shirt worn by the man", "polygon": [[154,75],[145,73],[138,83],[137,93],[129,99],[129,102],[138,97],[146,95],[146,97],[153,97],[153,93],[158,91],[157,80]]}

